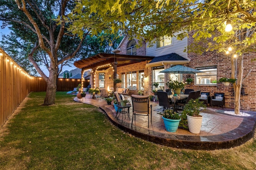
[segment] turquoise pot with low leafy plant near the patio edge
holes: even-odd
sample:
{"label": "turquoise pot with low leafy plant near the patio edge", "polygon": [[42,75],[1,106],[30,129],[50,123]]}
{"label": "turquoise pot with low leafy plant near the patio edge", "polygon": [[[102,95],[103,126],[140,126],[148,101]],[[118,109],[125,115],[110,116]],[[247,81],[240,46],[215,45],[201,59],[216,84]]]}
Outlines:
{"label": "turquoise pot with low leafy plant near the patio edge", "polygon": [[180,124],[180,114],[173,110],[167,109],[162,115],[164,126],[168,132],[176,132]]}

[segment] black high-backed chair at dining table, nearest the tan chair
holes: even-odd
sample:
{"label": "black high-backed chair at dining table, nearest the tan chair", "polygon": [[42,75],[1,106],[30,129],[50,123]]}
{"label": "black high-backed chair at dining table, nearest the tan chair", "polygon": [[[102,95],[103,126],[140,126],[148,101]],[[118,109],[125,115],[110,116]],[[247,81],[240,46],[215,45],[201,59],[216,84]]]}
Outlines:
{"label": "black high-backed chair at dining table, nearest the tan chair", "polygon": [[163,106],[162,107],[163,111],[165,109],[170,109],[171,107],[172,109],[174,109],[176,98],[169,99],[168,94],[166,92],[157,92],[157,96],[158,96],[159,106]]}

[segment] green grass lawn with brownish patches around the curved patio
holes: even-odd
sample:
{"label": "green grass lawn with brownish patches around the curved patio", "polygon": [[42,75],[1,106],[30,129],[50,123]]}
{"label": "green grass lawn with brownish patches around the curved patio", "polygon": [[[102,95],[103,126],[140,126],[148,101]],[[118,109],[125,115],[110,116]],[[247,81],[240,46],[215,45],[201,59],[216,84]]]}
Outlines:
{"label": "green grass lawn with brownish patches around the curved patio", "polygon": [[116,128],[100,109],[57,92],[32,92],[0,129],[1,170],[255,170],[256,137],[223,150],[189,150],[144,141]]}

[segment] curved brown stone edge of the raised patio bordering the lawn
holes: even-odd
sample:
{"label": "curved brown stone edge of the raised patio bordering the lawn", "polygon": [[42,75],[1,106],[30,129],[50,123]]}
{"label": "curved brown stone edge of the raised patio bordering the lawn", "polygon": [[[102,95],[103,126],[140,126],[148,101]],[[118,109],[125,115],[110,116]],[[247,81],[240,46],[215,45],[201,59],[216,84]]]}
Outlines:
{"label": "curved brown stone edge of the raised patio bordering the lawn", "polygon": [[[74,101],[76,100],[74,99]],[[104,111],[111,123],[119,129],[146,141],[180,149],[216,150],[237,147],[250,140],[254,136],[256,128],[256,113],[252,112],[250,113],[250,117],[243,117],[243,121],[236,129],[218,135],[180,135],[175,133],[160,133],[138,127],[136,125],[131,127],[131,124],[127,122],[118,122],[117,119],[113,117],[112,110],[108,107],[96,107],[99,107]]]}

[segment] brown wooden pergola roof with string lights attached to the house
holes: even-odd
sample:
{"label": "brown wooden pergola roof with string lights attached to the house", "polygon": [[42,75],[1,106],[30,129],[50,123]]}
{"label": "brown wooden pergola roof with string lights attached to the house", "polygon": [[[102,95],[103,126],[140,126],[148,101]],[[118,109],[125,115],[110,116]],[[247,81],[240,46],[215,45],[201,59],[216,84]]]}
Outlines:
{"label": "brown wooden pergola roof with string lights attached to the house", "polygon": [[[98,68],[98,70],[106,70],[109,67],[112,67],[113,65],[113,70],[114,70],[113,76],[114,78],[116,78],[117,67],[140,63],[142,61],[150,61],[153,58],[154,57],[151,57],[151,56],[124,55],[124,54],[115,54],[115,53],[113,54],[98,53],[86,59],[76,61],[74,63],[74,66],[76,66],[77,68],[82,68],[81,73],[83,78],[83,73],[85,70],[92,69],[93,74],[95,74],[97,67],[100,67]],[[112,65],[110,66],[110,64]],[[116,89],[115,83],[114,83],[114,89]]]}

